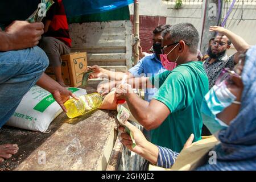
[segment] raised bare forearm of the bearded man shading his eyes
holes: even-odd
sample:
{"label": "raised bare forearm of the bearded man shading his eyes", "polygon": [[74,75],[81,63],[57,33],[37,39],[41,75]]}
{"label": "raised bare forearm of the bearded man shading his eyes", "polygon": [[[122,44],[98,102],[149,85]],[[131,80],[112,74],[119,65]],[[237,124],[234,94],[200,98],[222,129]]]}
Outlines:
{"label": "raised bare forearm of the bearded man shading his eyes", "polygon": [[250,48],[249,44],[247,44],[241,36],[234,34],[232,31],[225,30],[224,34],[233,43],[238,52],[244,52],[246,49]]}

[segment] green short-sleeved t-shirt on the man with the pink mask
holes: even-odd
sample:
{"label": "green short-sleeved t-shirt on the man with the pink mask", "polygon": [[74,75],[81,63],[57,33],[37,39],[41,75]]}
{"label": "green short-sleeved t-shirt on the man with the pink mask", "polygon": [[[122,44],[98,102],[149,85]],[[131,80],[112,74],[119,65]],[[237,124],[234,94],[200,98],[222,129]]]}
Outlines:
{"label": "green short-sleeved t-shirt on the man with the pink mask", "polygon": [[173,71],[150,77],[150,81],[159,88],[153,99],[171,111],[157,129],[151,130],[151,142],[180,152],[192,133],[194,142],[200,140],[203,126],[201,102],[209,88],[203,63],[191,61],[181,64]]}

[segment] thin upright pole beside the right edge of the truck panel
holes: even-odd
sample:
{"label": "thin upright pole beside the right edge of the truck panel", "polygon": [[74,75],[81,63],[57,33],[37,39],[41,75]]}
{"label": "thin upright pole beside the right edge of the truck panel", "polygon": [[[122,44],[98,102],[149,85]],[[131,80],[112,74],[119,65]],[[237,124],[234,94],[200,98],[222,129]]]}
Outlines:
{"label": "thin upright pole beside the right edge of the truck panel", "polygon": [[139,0],[134,0],[133,23],[134,37],[137,40],[135,43],[134,64],[137,64],[139,61]]}

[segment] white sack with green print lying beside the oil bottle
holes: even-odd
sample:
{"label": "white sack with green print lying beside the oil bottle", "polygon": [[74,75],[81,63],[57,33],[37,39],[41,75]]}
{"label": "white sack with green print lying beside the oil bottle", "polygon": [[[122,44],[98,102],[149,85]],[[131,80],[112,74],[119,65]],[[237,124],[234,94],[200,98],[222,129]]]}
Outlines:
{"label": "white sack with green print lying beside the oil bottle", "polygon": [[[85,89],[67,89],[71,90],[76,96],[86,94]],[[6,125],[46,133],[49,124],[62,111],[51,93],[35,85],[22,98],[22,101]]]}

